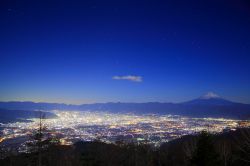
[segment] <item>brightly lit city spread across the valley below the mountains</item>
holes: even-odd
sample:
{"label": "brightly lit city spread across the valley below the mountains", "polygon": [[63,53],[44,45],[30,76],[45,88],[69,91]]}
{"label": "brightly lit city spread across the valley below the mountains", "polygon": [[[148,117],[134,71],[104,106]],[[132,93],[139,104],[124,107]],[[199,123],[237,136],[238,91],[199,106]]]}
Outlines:
{"label": "brightly lit city spread across the valley below the mountains", "polygon": [[[53,111],[54,119],[44,119],[47,130],[60,138],[61,144],[76,141],[99,140],[106,143],[147,142],[159,146],[163,142],[202,130],[219,133],[234,130],[249,123],[239,120],[218,118],[188,118],[177,115],[121,114],[108,112]],[[29,136],[38,128],[39,119],[31,122],[1,124],[1,142],[19,140],[18,146],[25,146]],[[22,138],[22,139],[20,139]]]}

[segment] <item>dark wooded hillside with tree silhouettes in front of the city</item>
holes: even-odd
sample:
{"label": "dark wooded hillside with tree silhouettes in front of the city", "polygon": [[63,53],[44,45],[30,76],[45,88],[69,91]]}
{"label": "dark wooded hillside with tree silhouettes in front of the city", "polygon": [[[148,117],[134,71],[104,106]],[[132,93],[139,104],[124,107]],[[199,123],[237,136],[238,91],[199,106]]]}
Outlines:
{"label": "dark wooded hillside with tree silhouettes in front of the city", "polygon": [[[78,142],[73,146],[47,144],[41,151],[6,154],[1,166],[249,166],[250,129],[219,135],[202,132],[163,144]],[[10,152],[9,152],[10,153]],[[4,156],[8,156],[3,158]]]}

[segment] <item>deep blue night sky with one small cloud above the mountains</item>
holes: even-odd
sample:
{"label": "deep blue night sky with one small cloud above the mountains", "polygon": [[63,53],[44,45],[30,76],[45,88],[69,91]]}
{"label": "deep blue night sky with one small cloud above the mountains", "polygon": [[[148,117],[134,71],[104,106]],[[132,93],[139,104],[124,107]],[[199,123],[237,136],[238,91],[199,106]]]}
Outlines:
{"label": "deep blue night sky with one small cloud above the mountains", "polygon": [[0,101],[250,103],[248,0],[1,0]]}

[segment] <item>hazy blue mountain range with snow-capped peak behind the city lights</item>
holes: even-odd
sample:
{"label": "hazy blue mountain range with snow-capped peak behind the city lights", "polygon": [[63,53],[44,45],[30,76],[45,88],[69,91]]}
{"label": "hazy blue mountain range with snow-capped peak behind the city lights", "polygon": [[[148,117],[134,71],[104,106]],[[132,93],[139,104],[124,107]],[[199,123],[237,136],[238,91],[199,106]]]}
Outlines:
{"label": "hazy blue mountain range with snow-capped peak behind the city lights", "polygon": [[58,103],[0,102],[0,108],[14,110],[79,110],[125,113],[174,114],[190,117],[221,117],[249,119],[250,104],[228,101],[209,92],[197,99],[183,103],[94,103],[67,105]]}

